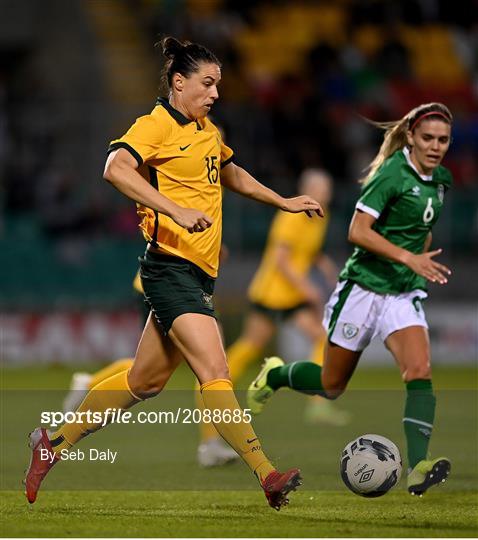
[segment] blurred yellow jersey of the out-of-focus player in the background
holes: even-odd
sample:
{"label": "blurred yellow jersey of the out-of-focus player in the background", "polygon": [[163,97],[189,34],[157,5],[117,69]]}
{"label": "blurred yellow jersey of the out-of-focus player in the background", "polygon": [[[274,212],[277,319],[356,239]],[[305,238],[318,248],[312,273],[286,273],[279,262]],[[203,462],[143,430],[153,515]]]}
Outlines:
{"label": "blurred yellow jersey of the out-of-focus player in the background", "polygon": [[308,217],[304,212],[291,214],[279,210],[272,222],[264,255],[249,287],[252,302],[270,309],[289,309],[306,300],[279,270],[276,249],[289,248],[292,268],[302,276],[309,273],[325,239],[328,218]]}

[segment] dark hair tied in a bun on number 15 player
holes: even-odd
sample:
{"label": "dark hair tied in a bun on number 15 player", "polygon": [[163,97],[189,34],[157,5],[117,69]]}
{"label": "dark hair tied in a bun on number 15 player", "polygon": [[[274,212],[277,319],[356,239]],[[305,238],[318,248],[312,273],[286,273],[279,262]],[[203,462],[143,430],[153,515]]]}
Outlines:
{"label": "dark hair tied in a bun on number 15 player", "polygon": [[192,73],[199,70],[201,62],[221,66],[216,55],[198,43],[181,42],[168,36],[163,38],[157,45],[161,46],[163,54],[167,58],[162,79],[168,89],[171,88],[174,73],[181,73],[186,78],[190,77]]}

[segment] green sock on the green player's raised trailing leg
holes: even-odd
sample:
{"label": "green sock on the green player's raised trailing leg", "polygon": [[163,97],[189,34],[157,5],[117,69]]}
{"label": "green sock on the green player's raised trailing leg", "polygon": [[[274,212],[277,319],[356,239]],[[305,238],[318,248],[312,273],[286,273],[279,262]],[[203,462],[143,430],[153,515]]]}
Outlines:
{"label": "green sock on the green player's raised trailing leg", "polygon": [[292,364],[271,369],[267,374],[267,384],[273,390],[287,386],[303,394],[325,396],[321,377],[322,368],[317,364],[313,362],[292,362]]}

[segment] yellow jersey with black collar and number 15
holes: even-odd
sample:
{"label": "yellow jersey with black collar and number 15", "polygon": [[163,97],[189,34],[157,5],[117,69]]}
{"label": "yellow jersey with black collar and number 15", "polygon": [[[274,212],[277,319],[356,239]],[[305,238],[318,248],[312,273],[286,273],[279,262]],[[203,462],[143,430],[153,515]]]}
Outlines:
{"label": "yellow jersey with black collar and number 15", "polygon": [[213,219],[206,231],[190,234],[168,216],[137,205],[147,242],[215,278],[222,236],[220,170],[233,156],[217,127],[208,118],[186,118],[161,98],[151,114],[138,118],[123,137],[111,142],[108,152],[118,148],[136,158],[138,172],[165,197]]}

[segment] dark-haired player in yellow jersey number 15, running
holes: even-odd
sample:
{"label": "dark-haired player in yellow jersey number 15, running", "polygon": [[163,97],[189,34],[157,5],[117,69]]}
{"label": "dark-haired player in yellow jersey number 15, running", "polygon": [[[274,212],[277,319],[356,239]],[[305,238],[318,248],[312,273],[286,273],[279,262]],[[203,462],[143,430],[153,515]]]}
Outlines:
{"label": "dark-haired player in yellow jersey number 15, running", "polygon": [[[276,471],[262,451],[235,398],[214,318],[221,186],[288,212],[323,212],[311,197],[283,198],[234,164],[232,150],[207,118],[221,79],[214,54],[171,37],[162,46],[169,98],[160,99],[151,114],[138,118],[111,143],[104,172],[106,180],[138,204],[148,242],[141,280],[152,313],[131,370],[99,383],[78,412],[128,409],[155,396],[186,359],[201,384],[205,408],[218,413],[213,418],[216,429],[254,472],[269,504],[279,510],[300,484],[300,471]],[[231,415],[234,421],[228,421]],[[30,434],[32,459],[25,479],[29,502],[35,501],[60,452],[100,427],[74,423],[53,434],[43,428]],[[54,453],[51,463],[41,459],[42,448]]]}

